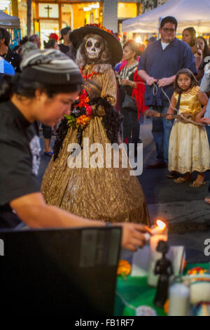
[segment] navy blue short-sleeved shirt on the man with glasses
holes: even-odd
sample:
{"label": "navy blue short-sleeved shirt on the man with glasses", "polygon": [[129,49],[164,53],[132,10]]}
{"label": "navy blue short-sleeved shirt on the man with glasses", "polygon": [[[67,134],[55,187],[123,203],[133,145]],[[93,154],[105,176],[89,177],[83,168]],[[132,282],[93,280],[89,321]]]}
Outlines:
{"label": "navy blue short-sleeved shirt on the man with glasses", "polygon": [[[190,46],[175,38],[164,51],[162,50],[161,39],[150,44],[139,59],[138,70],[146,71],[149,76],[155,79],[162,79],[172,77],[184,68],[197,74],[195,58]],[[171,99],[174,93],[173,84],[162,89]],[[168,106],[169,101],[160,88],[158,88],[157,95],[153,95],[153,86],[146,85],[145,104],[147,106]]]}

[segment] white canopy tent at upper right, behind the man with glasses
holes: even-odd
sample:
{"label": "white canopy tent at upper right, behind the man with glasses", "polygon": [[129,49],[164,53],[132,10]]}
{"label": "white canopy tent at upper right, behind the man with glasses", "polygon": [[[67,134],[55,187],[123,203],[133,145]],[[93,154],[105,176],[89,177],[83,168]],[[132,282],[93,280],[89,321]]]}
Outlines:
{"label": "white canopy tent at upper right, behind the man with glasses", "polygon": [[210,33],[210,0],[169,0],[152,11],[125,20],[123,32],[158,32],[160,20],[165,16],[178,20],[177,32],[194,27],[198,33]]}

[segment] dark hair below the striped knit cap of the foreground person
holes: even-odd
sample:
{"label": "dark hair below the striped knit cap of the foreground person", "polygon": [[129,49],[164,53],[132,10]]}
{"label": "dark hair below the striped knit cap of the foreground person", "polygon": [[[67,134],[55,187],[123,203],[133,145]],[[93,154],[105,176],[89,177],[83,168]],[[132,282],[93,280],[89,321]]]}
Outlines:
{"label": "dark hair below the striped knit cap of the foreground person", "polygon": [[14,77],[3,74],[0,81],[0,103],[10,100],[10,96],[17,94],[19,98],[34,98],[37,89],[43,90],[48,98],[53,98],[59,93],[73,93],[80,91],[80,85],[46,85],[38,81],[27,81],[21,78],[21,74]]}

